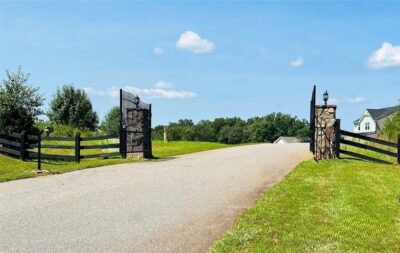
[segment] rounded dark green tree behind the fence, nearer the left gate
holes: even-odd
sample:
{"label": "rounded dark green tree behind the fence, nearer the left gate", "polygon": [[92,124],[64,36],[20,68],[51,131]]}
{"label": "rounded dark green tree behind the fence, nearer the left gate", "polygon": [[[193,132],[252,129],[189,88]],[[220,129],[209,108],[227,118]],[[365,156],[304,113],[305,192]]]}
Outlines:
{"label": "rounded dark green tree behind the fence, nearer the left gate", "polygon": [[48,116],[51,121],[58,124],[79,129],[87,128],[92,131],[96,129],[99,122],[86,92],[75,89],[73,85],[64,85],[62,89],[57,88],[50,103]]}

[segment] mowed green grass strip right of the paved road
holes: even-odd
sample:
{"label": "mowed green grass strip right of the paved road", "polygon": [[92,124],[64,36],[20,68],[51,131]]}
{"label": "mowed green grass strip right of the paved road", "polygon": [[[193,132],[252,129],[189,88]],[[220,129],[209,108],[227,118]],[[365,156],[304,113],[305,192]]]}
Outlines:
{"label": "mowed green grass strip right of the paved road", "polygon": [[400,252],[400,166],[307,161],[211,252]]}

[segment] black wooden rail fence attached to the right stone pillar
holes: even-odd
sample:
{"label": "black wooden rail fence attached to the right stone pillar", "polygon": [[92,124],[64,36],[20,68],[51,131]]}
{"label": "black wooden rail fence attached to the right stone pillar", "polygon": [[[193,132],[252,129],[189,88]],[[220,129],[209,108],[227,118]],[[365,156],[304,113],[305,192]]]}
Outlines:
{"label": "black wooden rail fence attached to the right stone pillar", "polygon": [[[357,139],[364,140],[365,142],[364,143],[358,142],[358,141],[356,141]],[[348,132],[345,130],[341,130],[340,129],[340,119],[336,120],[335,152],[336,152],[336,156],[338,158],[340,158],[340,154],[345,154],[345,155],[356,157],[356,158],[363,159],[363,160],[391,164],[392,162],[389,162],[389,161],[386,161],[386,160],[383,160],[380,158],[375,158],[375,157],[367,156],[365,154],[360,154],[360,153],[357,153],[356,151],[344,150],[341,148],[341,144],[364,149],[364,150],[369,150],[369,151],[373,151],[378,154],[397,158],[397,163],[400,164],[400,135],[398,136],[397,143],[393,143],[393,142],[365,136],[362,134],[356,134],[356,133]],[[376,145],[376,144],[378,144],[378,145]],[[396,151],[394,152],[393,150],[396,150]]]}

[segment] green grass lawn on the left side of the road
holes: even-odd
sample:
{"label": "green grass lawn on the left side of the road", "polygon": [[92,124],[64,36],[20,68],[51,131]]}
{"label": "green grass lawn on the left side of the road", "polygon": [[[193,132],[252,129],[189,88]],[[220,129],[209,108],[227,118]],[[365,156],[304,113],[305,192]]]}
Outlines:
{"label": "green grass lawn on the left side of the road", "polygon": [[[55,143],[49,143],[55,144]],[[60,142],[57,143],[60,145]],[[63,143],[64,144],[64,143]],[[95,143],[91,143],[95,144]],[[104,143],[102,143],[104,144]],[[64,144],[70,145],[70,144]],[[229,145],[224,145],[220,143],[211,142],[169,142],[164,143],[162,141],[153,142],[153,155],[157,158],[166,158],[175,155],[182,155],[188,153],[194,153],[199,151],[205,151],[216,148],[229,147]],[[46,153],[57,153],[63,155],[73,154],[73,150],[51,150],[44,149],[43,152]],[[104,153],[107,150],[91,150],[94,153]],[[108,152],[115,152],[115,150],[108,150]],[[134,162],[135,160],[121,159],[118,157],[109,159],[82,159],[80,163],[75,163],[72,161],[43,161],[42,169],[49,170],[51,174],[59,174],[74,170],[93,168],[105,165],[119,164]],[[22,162],[18,159],[10,158],[8,156],[0,155],[0,182],[9,181],[14,179],[34,177],[35,174],[32,173],[33,170],[37,168],[37,163],[33,162]]]}

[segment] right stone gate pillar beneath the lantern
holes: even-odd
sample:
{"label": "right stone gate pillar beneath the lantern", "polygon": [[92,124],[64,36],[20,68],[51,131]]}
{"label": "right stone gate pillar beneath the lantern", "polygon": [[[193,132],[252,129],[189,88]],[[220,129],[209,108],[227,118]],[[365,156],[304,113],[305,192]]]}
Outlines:
{"label": "right stone gate pillar beneath the lantern", "polygon": [[334,159],[336,105],[315,106],[315,159]]}

